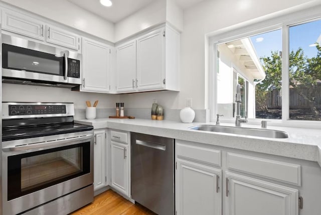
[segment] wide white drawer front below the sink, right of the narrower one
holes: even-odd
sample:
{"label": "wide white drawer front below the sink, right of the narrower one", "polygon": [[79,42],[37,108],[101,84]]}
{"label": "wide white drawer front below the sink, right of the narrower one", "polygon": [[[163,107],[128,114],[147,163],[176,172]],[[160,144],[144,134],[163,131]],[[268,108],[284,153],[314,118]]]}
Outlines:
{"label": "wide white drawer front below the sink, right of the narrower one", "polygon": [[227,153],[227,167],[276,181],[301,185],[301,166],[297,164]]}

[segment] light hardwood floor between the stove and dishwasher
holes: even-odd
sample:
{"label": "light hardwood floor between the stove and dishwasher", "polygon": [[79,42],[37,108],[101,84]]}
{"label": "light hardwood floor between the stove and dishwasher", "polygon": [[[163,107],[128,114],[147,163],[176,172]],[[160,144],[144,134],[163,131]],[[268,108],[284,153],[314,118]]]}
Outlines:
{"label": "light hardwood floor between the stove and dishwasher", "polygon": [[95,214],[95,215],[151,215],[155,214],[148,209],[131,203],[113,190],[109,189],[97,196],[94,201],[86,206],[74,211],[72,215]]}

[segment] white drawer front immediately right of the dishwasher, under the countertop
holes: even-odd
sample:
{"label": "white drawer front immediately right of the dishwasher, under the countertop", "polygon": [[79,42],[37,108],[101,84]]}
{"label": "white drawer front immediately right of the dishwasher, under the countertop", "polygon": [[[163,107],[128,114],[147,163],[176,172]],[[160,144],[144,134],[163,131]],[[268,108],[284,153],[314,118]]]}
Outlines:
{"label": "white drawer front immediately right of the dishwasher, under the countertop", "polygon": [[176,152],[178,157],[221,166],[220,150],[177,143]]}

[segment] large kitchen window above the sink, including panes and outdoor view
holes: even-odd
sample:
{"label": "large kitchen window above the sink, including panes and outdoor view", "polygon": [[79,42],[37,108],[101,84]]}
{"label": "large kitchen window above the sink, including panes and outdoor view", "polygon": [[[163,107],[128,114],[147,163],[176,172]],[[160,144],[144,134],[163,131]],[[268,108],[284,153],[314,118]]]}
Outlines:
{"label": "large kitchen window above the sink, including panes and outdoor view", "polygon": [[224,115],[223,122],[235,120],[237,83],[241,117],[249,122],[268,119],[272,124],[309,121],[315,125],[321,121],[321,19],[290,22],[288,17],[295,16],[257,23],[260,30],[248,26],[210,39],[212,121],[216,114]]}

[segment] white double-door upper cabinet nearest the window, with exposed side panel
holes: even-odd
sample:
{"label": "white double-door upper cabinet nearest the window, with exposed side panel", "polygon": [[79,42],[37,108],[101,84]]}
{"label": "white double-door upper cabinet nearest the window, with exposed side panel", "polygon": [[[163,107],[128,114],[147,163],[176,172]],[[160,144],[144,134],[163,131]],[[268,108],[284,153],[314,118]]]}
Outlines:
{"label": "white double-door upper cabinet nearest the window, with exposed side panel", "polygon": [[169,26],[117,46],[117,92],[179,91],[180,34]]}

